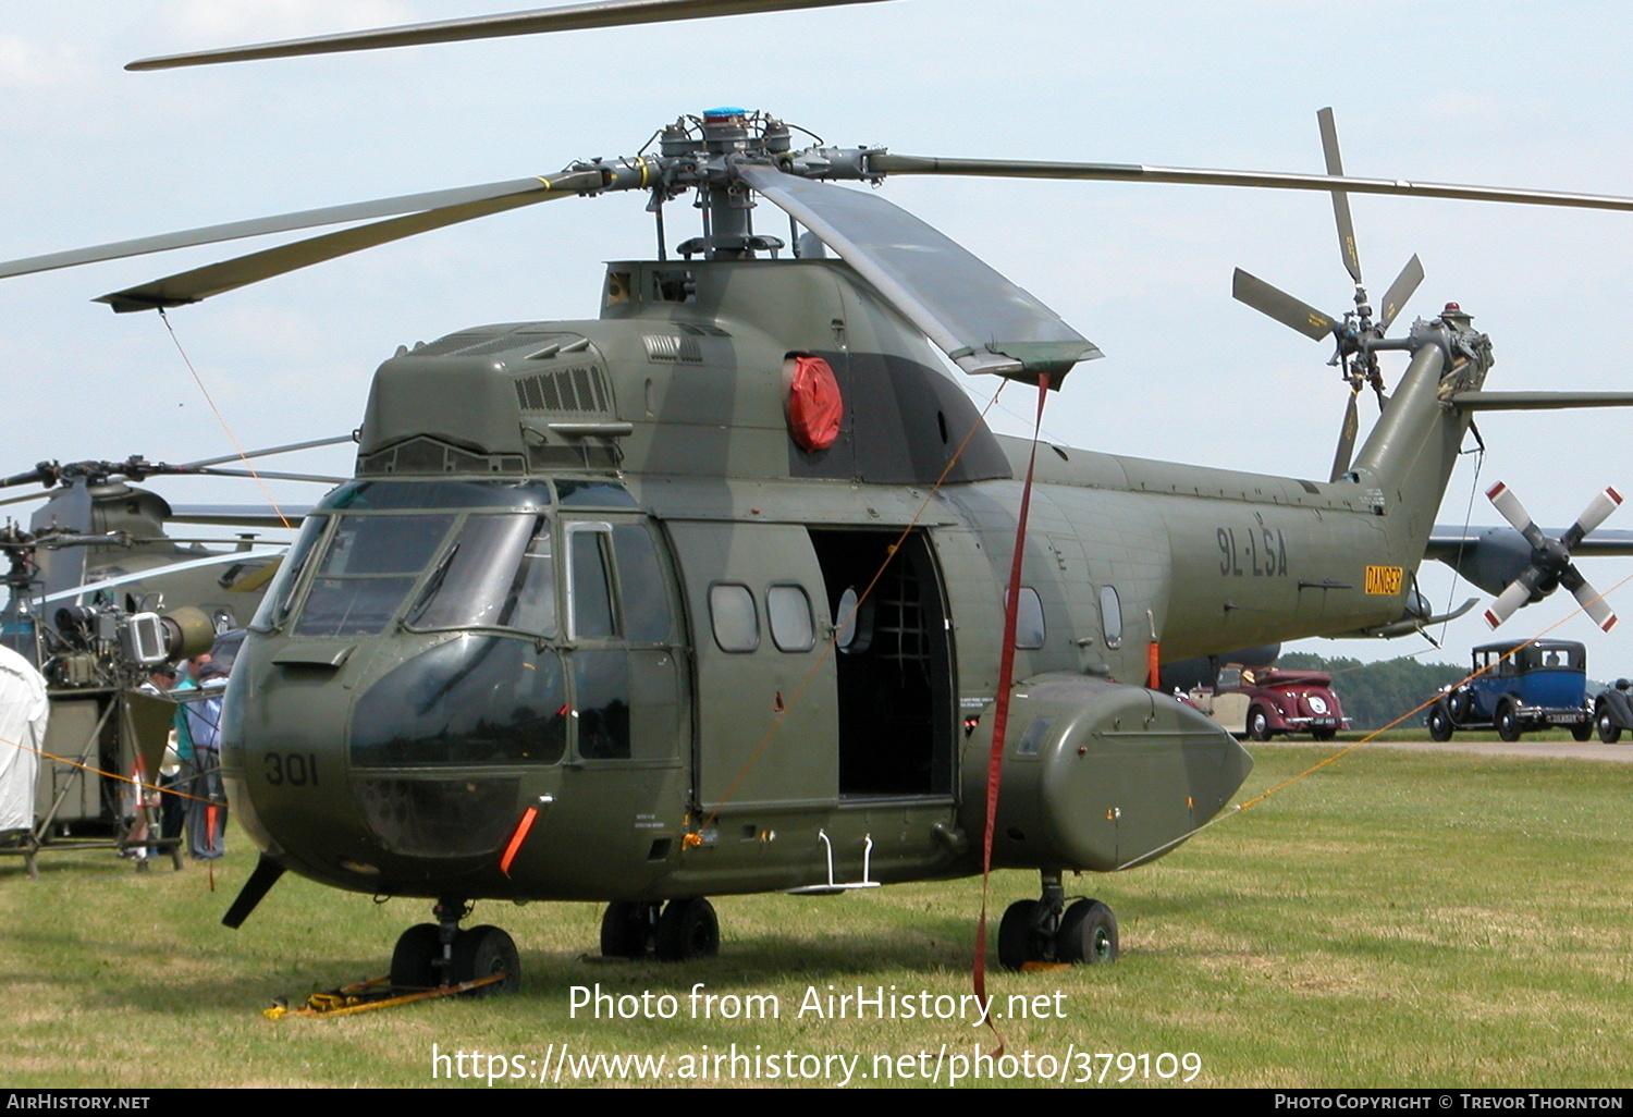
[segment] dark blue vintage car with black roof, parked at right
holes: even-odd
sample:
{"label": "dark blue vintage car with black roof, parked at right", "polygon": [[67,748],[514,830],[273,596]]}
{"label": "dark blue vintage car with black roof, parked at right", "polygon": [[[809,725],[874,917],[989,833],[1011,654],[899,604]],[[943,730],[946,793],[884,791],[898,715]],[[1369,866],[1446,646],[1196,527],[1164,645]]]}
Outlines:
{"label": "dark blue vintage car with black roof, parked at right", "polygon": [[1594,732],[1587,701],[1587,652],[1574,640],[1511,640],[1475,648],[1475,678],[1448,689],[1429,707],[1429,737],[1452,740],[1466,728],[1520,733],[1563,725],[1586,741]]}

